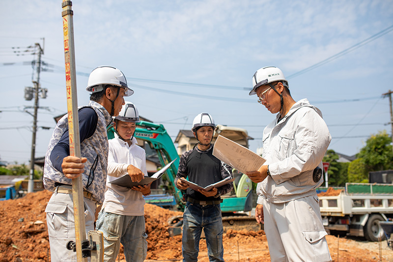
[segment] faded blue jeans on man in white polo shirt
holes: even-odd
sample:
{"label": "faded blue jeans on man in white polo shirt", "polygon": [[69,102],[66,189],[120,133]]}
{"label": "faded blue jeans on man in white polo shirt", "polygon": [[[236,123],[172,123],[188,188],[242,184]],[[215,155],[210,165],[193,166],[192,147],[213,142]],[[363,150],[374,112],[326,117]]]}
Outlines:
{"label": "faded blue jeans on man in white polo shirt", "polygon": [[104,209],[98,214],[96,230],[104,233],[104,261],[115,262],[120,243],[127,262],[142,262],[147,254],[144,216],[125,216]]}

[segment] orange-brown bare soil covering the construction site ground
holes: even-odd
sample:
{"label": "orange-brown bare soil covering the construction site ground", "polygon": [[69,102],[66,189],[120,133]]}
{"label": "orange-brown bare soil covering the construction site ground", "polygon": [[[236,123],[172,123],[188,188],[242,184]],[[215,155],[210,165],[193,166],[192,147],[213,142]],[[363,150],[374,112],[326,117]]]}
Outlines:
{"label": "orange-brown bare soil covering the construction site ground", "polygon": [[[0,202],[0,262],[47,262],[50,260],[45,207],[51,192],[29,193],[23,198]],[[180,215],[156,205],[145,205],[148,250],[146,261],[182,261],[181,235],[168,233],[168,218]],[[326,236],[334,262],[392,262],[387,241],[367,242],[359,237]],[[224,233],[226,262],[270,261],[262,230],[227,230]],[[199,245],[200,262],[208,262],[206,242]],[[123,249],[116,261],[125,262]]]}

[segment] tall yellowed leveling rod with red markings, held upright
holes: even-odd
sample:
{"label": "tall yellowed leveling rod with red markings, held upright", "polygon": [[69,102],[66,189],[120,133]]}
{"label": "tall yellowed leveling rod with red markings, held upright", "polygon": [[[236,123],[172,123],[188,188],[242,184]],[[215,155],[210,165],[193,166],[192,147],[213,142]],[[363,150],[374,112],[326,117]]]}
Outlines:
{"label": "tall yellowed leveling rod with red markings, held upright", "polygon": [[[74,49],[74,25],[71,1],[62,1],[63,34],[64,34],[64,60],[65,79],[67,88],[67,113],[70,155],[81,158],[81,145],[79,136],[78,99],[75,70],[75,49]],[[72,198],[74,204],[75,220],[75,242],[67,243],[69,250],[77,253],[78,262],[87,261],[91,256],[91,261],[103,261],[103,235],[101,232],[89,232],[89,240],[86,240],[86,228],[84,222],[84,201],[83,201],[83,181],[82,176],[72,179]],[[91,252],[93,251],[93,252]],[[99,254],[101,253],[101,254]],[[93,256],[94,255],[94,256]],[[98,255],[98,257],[97,257]]]}

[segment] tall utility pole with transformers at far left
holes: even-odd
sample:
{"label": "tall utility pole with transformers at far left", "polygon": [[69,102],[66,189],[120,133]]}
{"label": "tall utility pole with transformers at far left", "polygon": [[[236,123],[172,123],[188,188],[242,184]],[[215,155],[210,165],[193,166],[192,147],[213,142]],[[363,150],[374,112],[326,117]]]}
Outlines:
{"label": "tall utility pole with transformers at far left", "polygon": [[44,54],[39,43],[35,43],[38,49],[38,58],[36,63],[36,80],[34,84],[34,115],[33,115],[33,136],[31,141],[31,156],[30,156],[30,174],[28,179],[28,193],[34,192],[34,158],[35,158],[35,136],[37,133],[37,111],[38,111],[38,92],[40,89],[40,72],[41,72],[41,54]]}

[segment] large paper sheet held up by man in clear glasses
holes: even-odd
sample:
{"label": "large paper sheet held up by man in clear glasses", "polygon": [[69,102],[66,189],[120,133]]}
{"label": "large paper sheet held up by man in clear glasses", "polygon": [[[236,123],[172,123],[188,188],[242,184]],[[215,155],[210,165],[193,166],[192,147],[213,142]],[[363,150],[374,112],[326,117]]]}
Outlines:
{"label": "large paper sheet held up by man in clear glasses", "polygon": [[263,157],[250,149],[221,135],[214,143],[213,155],[243,174],[257,171],[266,162]]}

